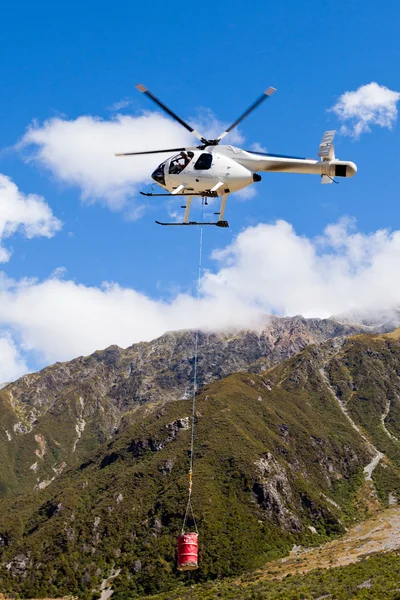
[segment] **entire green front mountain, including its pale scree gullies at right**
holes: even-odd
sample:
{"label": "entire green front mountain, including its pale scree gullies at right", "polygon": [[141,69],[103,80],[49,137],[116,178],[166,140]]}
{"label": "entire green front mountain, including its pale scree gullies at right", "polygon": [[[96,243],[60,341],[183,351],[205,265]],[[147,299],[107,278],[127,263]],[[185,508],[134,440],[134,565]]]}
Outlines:
{"label": "entire green front mountain, including its pale scree gullies at right", "polygon": [[[208,383],[197,395],[201,569],[190,581],[239,574],[293,544],[321,543],[400,496],[400,331],[332,339],[265,366]],[[84,372],[89,399],[103,379]],[[161,398],[138,401],[118,432],[45,489],[0,501],[4,591],[91,598],[114,576],[114,598],[124,600],[187,580],[175,552],[191,401]]]}

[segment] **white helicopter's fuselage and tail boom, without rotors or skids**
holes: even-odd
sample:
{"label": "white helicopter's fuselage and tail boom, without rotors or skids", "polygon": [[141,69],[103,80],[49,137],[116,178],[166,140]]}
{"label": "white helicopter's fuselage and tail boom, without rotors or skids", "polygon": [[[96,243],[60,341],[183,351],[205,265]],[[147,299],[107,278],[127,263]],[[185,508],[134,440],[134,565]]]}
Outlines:
{"label": "white helicopter's fuselage and tail boom, without rotors or skids", "polygon": [[333,179],[352,177],[357,167],[350,161],[281,157],[218,145],[204,150],[191,149],[172,156],[154,171],[152,177],[158,185],[174,195],[211,192],[222,196],[259,181],[260,171],[304,173]]}

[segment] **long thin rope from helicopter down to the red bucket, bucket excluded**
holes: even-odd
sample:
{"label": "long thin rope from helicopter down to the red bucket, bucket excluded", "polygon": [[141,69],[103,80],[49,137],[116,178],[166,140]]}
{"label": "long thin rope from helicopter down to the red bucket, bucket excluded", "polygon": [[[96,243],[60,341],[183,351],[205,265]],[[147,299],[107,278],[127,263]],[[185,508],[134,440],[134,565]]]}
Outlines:
{"label": "long thin rope from helicopter down to the red bucket, bucket excluded", "polygon": [[[204,221],[204,198],[201,199],[201,221]],[[200,225],[200,243],[199,243],[199,270],[197,275],[197,326],[194,336],[194,373],[193,373],[193,396],[192,396],[192,427],[190,434],[190,460],[189,460],[189,490],[188,490],[188,502],[186,505],[185,517],[183,519],[182,533],[185,533],[186,522],[191,514],[196,533],[198,532],[196,519],[194,518],[193,506],[192,506],[192,486],[193,486],[193,450],[194,450],[194,419],[196,409],[196,392],[197,392],[197,359],[199,350],[199,305],[200,305],[200,285],[201,285],[201,273],[203,270],[203,225]]]}

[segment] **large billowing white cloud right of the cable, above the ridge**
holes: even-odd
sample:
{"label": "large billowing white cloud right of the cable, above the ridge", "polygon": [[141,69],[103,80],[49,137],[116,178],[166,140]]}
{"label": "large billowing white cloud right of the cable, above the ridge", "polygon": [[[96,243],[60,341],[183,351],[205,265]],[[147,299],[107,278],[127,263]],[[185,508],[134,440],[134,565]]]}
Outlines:
{"label": "large billowing white cloud right of the cable, above the ridge", "polygon": [[351,219],[315,239],[285,221],[248,228],[214,253],[221,268],[207,277],[209,293],[223,288],[243,304],[284,315],[326,317],[400,302],[400,231],[363,234]]}

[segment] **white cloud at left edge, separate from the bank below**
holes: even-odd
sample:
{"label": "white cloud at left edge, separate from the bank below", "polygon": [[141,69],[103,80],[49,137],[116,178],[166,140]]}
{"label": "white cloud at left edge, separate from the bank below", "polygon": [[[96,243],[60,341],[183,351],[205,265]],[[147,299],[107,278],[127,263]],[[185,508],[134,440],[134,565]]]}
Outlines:
{"label": "white cloud at left edge, separate from the bank below", "polygon": [[61,221],[41,196],[23,194],[9,177],[0,174],[0,262],[7,262],[11,256],[2,241],[16,232],[28,239],[50,238],[60,228]]}

